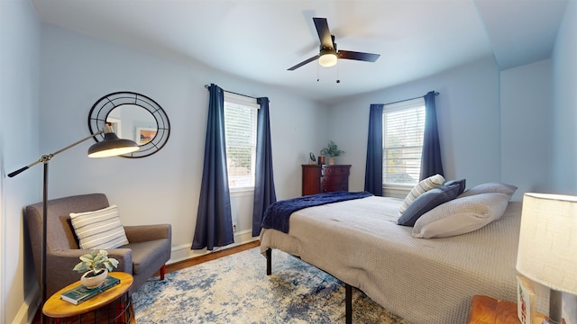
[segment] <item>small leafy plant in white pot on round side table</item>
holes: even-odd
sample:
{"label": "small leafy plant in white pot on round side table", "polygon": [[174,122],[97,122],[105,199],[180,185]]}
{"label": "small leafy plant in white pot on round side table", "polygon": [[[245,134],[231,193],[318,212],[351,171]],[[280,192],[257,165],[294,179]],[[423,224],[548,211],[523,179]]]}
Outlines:
{"label": "small leafy plant in white pot on round side table", "polygon": [[118,266],[118,260],[114,257],[108,257],[106,250],[96,251],[95,249],[79,258],[80,262],[74,266],[73,270],[80,274],[84,273],[80,277],[80,282],[88,289],[96,288],[102,284],[108,271],[112,271],[113,267]]}

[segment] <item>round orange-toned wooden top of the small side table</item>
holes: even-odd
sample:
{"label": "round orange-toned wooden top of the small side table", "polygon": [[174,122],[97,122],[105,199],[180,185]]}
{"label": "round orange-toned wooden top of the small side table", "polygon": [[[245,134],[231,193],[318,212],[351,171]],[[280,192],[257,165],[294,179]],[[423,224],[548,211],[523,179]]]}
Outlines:
{"label": "round orange-toned wooden top of the small side table", "polygon": [[118,297],[126,293],[133,285],[132,275],[126,274],[124,272],[110,272],[108,275],[120,279],[120,284],[115,285],[103,293],[97,294],[85,302],[80,302],[78,305],[65,302],[60,299],[60,294],[78,286],[80,281],[74,284],[69,284],[68,286],[60,289],[60,291],[51,295],[48,301],[44,302],[42,312],[44,315],[50,316],[51,318],[63,319],[81,315],[87,313],[88,311],[95,311],[109,304],[110,302],[114,302],[116,299],[118,299]]}

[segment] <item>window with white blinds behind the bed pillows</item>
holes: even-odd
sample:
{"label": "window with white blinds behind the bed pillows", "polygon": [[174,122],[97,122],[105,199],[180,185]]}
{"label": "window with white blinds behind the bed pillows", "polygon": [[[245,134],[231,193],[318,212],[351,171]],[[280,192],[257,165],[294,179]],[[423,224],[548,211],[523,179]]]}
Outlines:
{"label": "window with white blinds behind the bed pillows", "polygon": [[383,124],[383,184],[417,184],[425,131],[425,100],[386,104]]}

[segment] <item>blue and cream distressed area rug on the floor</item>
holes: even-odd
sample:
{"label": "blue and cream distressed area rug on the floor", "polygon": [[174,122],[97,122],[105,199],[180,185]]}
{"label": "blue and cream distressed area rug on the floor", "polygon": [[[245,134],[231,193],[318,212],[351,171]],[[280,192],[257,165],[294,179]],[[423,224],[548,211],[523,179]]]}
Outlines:
{"label": "blue and cream distressed area rug on the floor", "polygon": [[[151,279],[133,293],[136,322],[344,323],[344,284],[273,250],[272,275],[254,247]],[[353,323],[408,324],[353,289]]]}

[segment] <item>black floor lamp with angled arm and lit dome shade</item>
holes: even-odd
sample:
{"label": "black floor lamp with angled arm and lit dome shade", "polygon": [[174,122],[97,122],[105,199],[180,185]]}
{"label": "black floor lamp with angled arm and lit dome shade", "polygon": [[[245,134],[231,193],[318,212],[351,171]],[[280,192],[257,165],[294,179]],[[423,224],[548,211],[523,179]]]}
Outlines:
{"label": "black floor lamp with angled arm and lit dome shade", "polygon": [[[136,144],[133,140],[130,139],[119,139],[114,131],[110,128],[108,124],[105,124],[104,130],[99,130],[96,133],[87,136],[84,139],[80,139],[77,142],[74,142],[67,146],[66,148],[60,148],[54,153],[43,155],[38,161],[33,162],[28,166],[23,166],[22,168],[14,171],[13,173],[9,174],[9,177],[13,177],[14,175],[19,175],[23,171],[35,166],[39,163],[44,164],[44,184],[43,184],[43,193],[42,193],[42,254],[41,254],[41,304],[40,308],[44,306],[44,302],[46,302],[46,229],[47,229],[47,217],[46,214],[48,213],[47,202],[48,202],[48,163],[50,159],[55,155],[69,149],[72,147],[77,146],[78,144],[84,142],[87,139],[92,139],[96,135],[100,135],[104,133],[105,139],[97,142],[90,148],[88,148],[88,157],[114,157],[123,155],[126,153],[131,153],[138,150],[140,147]],[[41,312],[41,323],[44,323],[44,314]]]}

